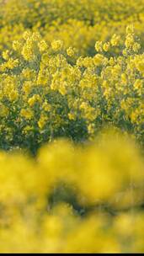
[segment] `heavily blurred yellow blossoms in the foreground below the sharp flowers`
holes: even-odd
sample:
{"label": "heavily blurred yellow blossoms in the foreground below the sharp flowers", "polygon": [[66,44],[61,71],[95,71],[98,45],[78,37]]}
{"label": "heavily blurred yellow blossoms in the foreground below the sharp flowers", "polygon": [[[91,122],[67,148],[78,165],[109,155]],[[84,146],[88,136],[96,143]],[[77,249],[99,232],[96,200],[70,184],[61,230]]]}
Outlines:
{"label": "heavily blurred yellow blossoms in the foreground below the sharp flowers", "polygon": [[143,252],[141,152],[106,134],[51,142],[36,161],[1,152],[1,253]]}

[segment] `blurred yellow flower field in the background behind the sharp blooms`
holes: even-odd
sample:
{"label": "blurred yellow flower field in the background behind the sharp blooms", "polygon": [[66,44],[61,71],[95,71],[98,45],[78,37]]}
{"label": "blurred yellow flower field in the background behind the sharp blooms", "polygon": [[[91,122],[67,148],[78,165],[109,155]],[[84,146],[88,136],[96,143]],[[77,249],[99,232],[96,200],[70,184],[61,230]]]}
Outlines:
{"label": "blurred yellow flower field in the background behind the sharp blooms", "polygon": [[64,40],[80,55],[93,56],[96,40],[109,40],[135,24],[143,45],[143,0],[1,0],[0,47],[8,48],[25,29],[39,29],[46,40]]}

